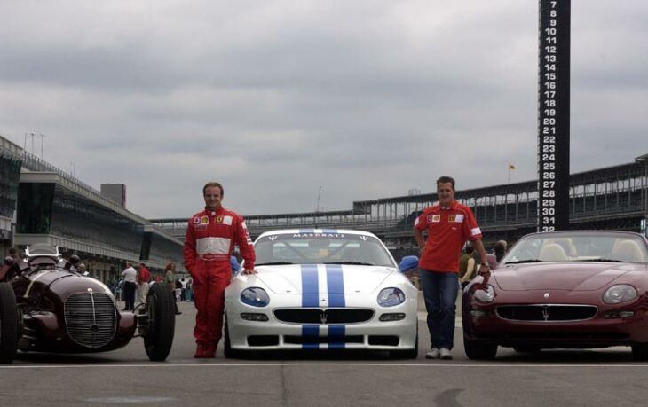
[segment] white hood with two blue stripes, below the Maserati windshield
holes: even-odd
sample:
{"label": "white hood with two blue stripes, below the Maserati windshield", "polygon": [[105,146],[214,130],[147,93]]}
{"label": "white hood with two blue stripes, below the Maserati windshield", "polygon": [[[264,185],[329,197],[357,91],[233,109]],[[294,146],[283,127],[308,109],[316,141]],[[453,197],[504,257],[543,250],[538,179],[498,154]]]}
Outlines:
{"label": "white hood with two blue stripes, below the Maserati windshield", "polygon": [[[241,276],[248,278],[248,286],[254,285],[257,278],[280,294],[367,294],[374,292],[389,275],[398,272],[391,267],[337,264],[257,266],[256,270],[256,275]],[[312,273],[310,280],[303,278],[308,270]]]}

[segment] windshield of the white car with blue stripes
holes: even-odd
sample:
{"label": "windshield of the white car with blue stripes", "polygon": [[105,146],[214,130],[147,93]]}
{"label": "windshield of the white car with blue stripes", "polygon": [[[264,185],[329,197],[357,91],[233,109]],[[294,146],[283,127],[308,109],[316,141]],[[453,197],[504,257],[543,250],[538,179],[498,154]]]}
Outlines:
{"label": "windshield of the white car with blue stripes", "polygon": [[383,243],[351,233],[277,233],[257,239],[256,264],[360,264],[396,267]]}

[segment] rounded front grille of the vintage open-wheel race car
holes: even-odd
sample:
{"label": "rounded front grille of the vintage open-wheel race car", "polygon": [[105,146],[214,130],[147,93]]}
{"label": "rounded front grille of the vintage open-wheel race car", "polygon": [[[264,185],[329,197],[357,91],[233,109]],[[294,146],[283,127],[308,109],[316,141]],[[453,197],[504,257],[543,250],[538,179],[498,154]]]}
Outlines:
{"label": "rounded front grille of the vintage open-wheel race car", "polygon": [[117,310],[108,294],[73,294],[65,302],[70,338],[86,348],[101,348],[115,336]]}

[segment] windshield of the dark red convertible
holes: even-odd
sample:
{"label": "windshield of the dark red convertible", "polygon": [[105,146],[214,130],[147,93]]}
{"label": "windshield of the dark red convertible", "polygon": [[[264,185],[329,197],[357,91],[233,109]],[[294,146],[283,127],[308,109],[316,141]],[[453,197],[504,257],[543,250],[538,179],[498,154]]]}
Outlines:
{"label": "windshield of the dark red convertible", "polygon": [[523,262],[646,262],[648,247],[634,233],[573,232],[526,236],[510,249],[503,264]]}

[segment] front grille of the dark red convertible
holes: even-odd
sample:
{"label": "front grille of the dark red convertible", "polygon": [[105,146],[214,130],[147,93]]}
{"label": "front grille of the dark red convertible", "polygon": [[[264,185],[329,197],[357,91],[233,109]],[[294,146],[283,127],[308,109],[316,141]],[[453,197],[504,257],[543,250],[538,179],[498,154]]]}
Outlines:
{"label": "front grille of the dark red convertible", "polygon": [[597,311],[594,305],[501,305],[497,307],[497,316],[513,321],[568,322],[593,318]]}

